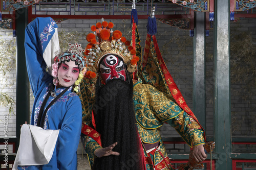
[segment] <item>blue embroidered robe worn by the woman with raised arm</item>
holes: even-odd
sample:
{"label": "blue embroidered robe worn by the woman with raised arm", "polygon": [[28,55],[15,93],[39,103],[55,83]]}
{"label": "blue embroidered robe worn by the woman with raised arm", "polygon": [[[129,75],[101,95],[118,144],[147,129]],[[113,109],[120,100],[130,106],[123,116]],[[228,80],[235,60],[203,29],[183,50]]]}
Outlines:
{"label": "blue embroidered robe worn by the woman with raised arm", "polygon": [[[38,165],[36,162],[31,162],[24,166],[18,166],[18,169],[77,169],[76,151],[82,122],[81,103],[77,94],[73,92],[72,86],[53,88],[53,76],[46,71],[47,66],[51,68],[51,63],[55,58],[54,52],[59,50],[58,48],[57,25],[52,18],[36,18],[28,25],[25,35],[26,61],[29,80],[35,97],[30,124],[37,126],[40,124],[38,124],[39,119],[42,119],[41,128],[44,130],[41,133],[47,130],[59,130],[59,133],[56,145],[52,143],[55,147],[49,163]],[[57,70],[58,67],[54,69]],[[41,118],[39,111],[47,94],[50,93],[50,88],[53,90],[44,109],[58,94],[64,90],[66,92],[50,106],[45,118]],[[40,136],[38,137],[40,138]],[[30,153],[20,154],[23,156],[30,155]],[[23,162],[18,163],[23,164]]]}

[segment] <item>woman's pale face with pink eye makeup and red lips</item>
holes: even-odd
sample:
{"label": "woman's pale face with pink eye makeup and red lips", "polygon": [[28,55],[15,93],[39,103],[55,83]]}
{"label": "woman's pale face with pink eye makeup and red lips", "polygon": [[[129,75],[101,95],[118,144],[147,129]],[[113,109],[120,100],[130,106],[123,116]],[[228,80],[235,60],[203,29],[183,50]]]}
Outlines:
{"label": "woman's pale face with pink eye makeup and red lips", "polygon": [[79,68],[75,61],[61,63],[58,69],[58,81],[63,87],[72,86],[79,76]]}

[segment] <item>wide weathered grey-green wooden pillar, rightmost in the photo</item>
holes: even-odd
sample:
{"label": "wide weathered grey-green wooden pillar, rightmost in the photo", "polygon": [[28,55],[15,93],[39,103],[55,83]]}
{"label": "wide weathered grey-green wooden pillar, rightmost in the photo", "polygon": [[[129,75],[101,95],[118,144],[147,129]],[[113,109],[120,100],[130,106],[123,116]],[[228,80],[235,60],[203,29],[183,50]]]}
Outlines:
{"label": "wide weathered grey-green wooden pillar, rightmost in the photo", "polygon": [[231,169],[231,113],[229,66],[229,1],[215,1],[214,23],[214,113],[216,169]]}

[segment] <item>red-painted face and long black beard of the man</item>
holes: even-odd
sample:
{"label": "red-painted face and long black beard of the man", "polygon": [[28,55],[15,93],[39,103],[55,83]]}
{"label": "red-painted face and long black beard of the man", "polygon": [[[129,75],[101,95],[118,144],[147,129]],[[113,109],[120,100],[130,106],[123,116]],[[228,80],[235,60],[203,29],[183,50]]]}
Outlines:
{"label": "red-painted face and long black beard of the man", "polygon": [[[139,155],[143,152],[135,126],[133,83],[126,75],[126,65],[118,55],[109,54],[102,58],[99,69],[101,80],[96,83],[93,111],[96,130],[102,134],[102,147],[110,146],[110,150],[95,151],[93,169],[130,169],[132,165],[141,170],[143,159]],[[132,161],[129,166],[128,160]]]}

